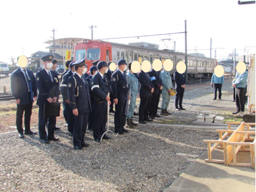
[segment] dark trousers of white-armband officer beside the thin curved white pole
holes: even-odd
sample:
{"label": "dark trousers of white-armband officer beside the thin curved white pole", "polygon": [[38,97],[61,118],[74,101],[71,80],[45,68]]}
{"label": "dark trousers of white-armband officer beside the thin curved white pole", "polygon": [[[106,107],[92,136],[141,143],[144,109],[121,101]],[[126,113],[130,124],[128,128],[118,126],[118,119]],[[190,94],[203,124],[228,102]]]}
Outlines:
{"label": "dark trousers of white-armband officer beside the thin curved white pole", "polygon": [[93,120],[93,137],[94,139],[101,139],[101,136],[106,131],[107,101],[101,102],[99,106],[96,102],[93,102],[93,109],[96,109],[96,115]]}

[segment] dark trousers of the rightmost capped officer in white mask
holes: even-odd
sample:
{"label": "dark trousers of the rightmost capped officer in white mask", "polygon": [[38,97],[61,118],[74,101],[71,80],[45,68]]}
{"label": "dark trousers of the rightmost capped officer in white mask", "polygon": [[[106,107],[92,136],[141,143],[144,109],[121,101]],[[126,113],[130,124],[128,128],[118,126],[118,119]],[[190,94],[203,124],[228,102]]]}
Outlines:
{"label": "dark trousers of the rightmost capped officer in white mask", "polygon": [[127,95],[120,94],[118,97],[117,105],[115,105],[115,131],[122,131],[126,121],[126,106],[127,106]]}

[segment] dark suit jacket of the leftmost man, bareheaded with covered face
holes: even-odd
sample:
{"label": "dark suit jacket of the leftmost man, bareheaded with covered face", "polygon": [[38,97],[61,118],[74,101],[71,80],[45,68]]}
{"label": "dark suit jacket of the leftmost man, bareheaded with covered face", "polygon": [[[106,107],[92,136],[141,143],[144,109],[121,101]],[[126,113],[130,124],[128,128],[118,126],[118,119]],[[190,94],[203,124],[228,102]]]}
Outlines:
{"label": "dark suit jacket of the leftmost man, bareheaded with covered face", "polygon": [[[37,96],[37,88],[36,88],[36,79],[34,74],[29,69],[26,69],[28,72],[28,78],[31,85],[31,96]],[[12,96],[14,98],[20,99],[20,105],[30,104],[33,102],[33,97],[29,96],[28,84],[26,83],[25,76],[23,72],[20,70],[20,67],[16,69],[12,75],[10,76],[10,88],[12,90]]]}

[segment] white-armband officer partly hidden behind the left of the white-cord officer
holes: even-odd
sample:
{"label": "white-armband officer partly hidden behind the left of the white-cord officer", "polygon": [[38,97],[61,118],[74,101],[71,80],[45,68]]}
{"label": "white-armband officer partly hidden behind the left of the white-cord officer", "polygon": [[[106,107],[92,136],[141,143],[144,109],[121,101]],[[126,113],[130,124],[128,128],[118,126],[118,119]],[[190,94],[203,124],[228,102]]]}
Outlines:
{"label": "white-armband officer partly hidden behind the left of the white-cord officer", "polygon": [[[68,107],[68,119],[67,119],[67,124],[68,124],[68,132],[69,132],[69,136],[73,136],[73,128],[74,128],[74,122],[75,122],[75,117],[74,114],[72,112],[70,103],[69,103],[69,99],[68,99],[68,88],[67,88],[67,83],[68,83],[68,79],[69,77],[71,77],[72,75],[74,75],[75,71],[75,67],[73,66],[74,61],[71,61],[71,63],[69,64],[69,71],[63,76],[61,85],[60,85],[60,91],[62,94],[62,98],[63,98],[63,103],[65,102]],[[64,110],[64,104],[63,104],[63,110]]]}

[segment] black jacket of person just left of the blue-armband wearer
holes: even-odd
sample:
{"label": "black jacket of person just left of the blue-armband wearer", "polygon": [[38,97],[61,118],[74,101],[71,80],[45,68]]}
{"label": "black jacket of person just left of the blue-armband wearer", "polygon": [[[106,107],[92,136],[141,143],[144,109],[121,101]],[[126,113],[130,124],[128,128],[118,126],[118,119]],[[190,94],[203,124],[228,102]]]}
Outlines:
{"label": "black jacket of person just left of the blue-armband wearer", "polygon": [[139,91],[140,97],[150,97],[151,90],[153,88],[152,82],[150,82],[149,75],[145,74],[144,71],[139,72],[139,83],[141,83],[141,90]]}

